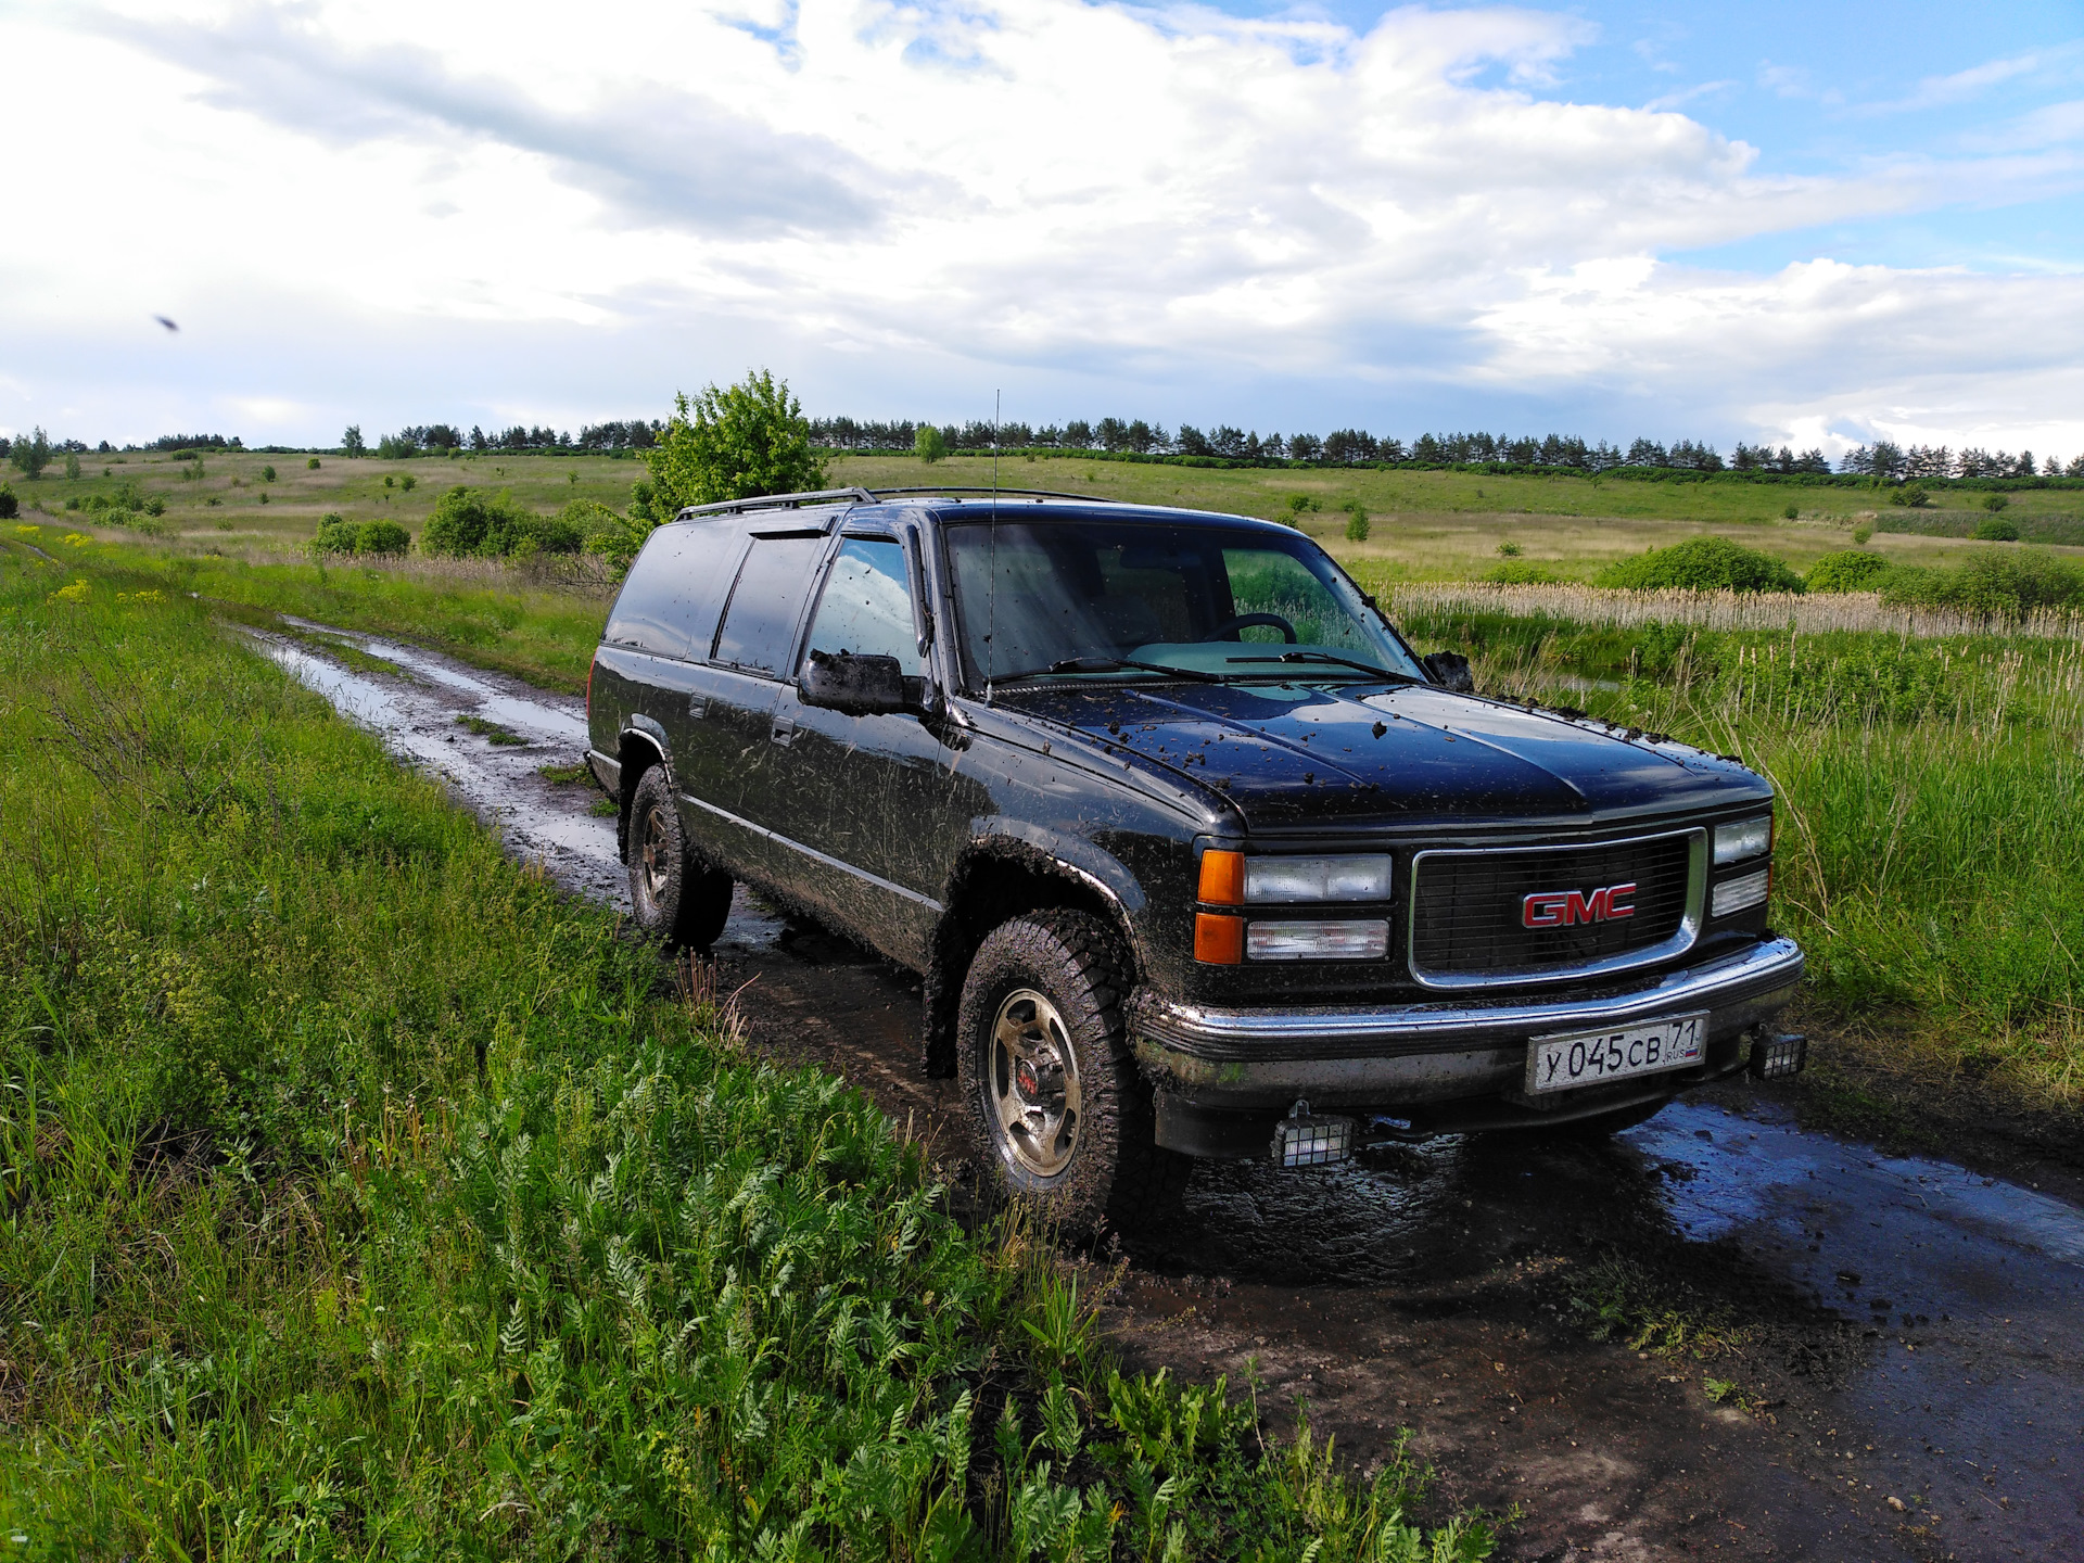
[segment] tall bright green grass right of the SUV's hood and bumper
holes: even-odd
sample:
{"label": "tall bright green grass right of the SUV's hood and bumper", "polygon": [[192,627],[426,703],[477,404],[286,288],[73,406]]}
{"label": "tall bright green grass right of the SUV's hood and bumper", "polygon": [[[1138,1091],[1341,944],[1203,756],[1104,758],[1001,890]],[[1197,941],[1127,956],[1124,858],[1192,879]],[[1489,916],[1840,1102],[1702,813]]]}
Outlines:
{"label": "tall bright green grass right of the SUV's hood and bumper", "polygon": [[1938,625],[1623,629],[1659,604],[1584,606],[1590,623],[1511,619],[1482,592],[1407,623],[1471,650],[1480,690],[1769,775],[1773,917],[1809,952],[1811,1002],[1888,1021],[1926,1063],[2084,1105],[2084,646]]}

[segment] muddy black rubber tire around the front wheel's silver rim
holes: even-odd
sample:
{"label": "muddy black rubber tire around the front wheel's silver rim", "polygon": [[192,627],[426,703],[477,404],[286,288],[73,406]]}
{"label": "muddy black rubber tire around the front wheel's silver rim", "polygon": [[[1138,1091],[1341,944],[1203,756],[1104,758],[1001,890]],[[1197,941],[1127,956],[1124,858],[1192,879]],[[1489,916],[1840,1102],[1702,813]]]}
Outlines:
{"label": "muddy black rubber tire around the front wheel's silver rim", "polygon": [[[1080,1123],[1069,1163],[1038,1175],[1000,1125],[992,1088],[994,1027],[1021,990],[1048,998],[1077,1069]],[[1152,1142],[1150,1092],[1136,1073],[1121,1007],[1127,961],[1113,932],[1082,911],[1040,911],[992,929],[977,946],[957,1009],[957,1084],[986,1186],[1029,1205],[1071,1240],[1102,1223],[1134,1225],[1169,1209],[1192,1163]]]}

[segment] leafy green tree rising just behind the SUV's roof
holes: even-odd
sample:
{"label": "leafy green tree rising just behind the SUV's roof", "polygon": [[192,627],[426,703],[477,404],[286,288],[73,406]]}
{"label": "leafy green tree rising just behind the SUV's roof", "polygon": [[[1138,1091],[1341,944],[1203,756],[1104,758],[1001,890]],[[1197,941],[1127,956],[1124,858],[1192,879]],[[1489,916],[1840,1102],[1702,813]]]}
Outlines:
{"label": "leafy green tree rising just behind the SUV's roof", "polygon": [[761,369],[736,386],[706,386],[673,398],[673,419],[644,452],[656,486],[654,508],[750,500],[821,488],[825,463],[788,383]]}

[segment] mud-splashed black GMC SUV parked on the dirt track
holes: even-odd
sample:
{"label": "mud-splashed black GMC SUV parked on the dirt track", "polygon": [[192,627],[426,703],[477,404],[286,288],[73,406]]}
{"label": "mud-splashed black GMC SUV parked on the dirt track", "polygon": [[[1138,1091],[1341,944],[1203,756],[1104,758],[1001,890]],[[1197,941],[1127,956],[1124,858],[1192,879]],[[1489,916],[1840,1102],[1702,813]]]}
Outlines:
{"label": "mud-splashed black GMC SUV parked on the dirt track", "polygon": [[1615,1130],[1801,1067],[1773,792],[1469,692],[1290,527],[1000,492],[684,511],[590,763],[646,929],[731,882],[925,975],[923,1063],[1069,1230],[1186,1157]]}

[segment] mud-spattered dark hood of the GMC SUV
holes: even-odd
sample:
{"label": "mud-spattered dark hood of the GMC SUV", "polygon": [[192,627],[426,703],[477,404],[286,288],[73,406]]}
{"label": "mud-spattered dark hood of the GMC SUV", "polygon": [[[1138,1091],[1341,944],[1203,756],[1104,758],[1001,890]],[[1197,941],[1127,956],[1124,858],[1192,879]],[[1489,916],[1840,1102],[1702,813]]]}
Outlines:
{"label": "mud-spattered dark hood of the GMC SUV", "polygon": [[1217,790],[1248,827],[1594,817],[1769,796],[1742,765],[1686,744],[1434,686],[1088,684],[998,700],[1115,763]]}

